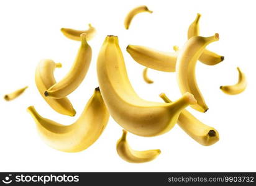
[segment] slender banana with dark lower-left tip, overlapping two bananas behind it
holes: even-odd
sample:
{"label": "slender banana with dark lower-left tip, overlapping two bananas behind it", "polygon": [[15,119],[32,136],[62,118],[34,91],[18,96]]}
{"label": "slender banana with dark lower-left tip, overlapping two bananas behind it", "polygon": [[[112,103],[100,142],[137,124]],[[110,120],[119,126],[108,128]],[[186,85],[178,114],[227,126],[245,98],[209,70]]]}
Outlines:
{"label": "slender banana with dark lower-left tip, overlapping two bananas behind it", "polygon": [[60,99],[75,91],[75,89],[80,86],[83,79],[85,79],[91,63],[91,55],[91,47],[86,41],[86,33],[82,33],[81,46],[73,66],[61,81],[57,82],[44,92],[45,96]]}

